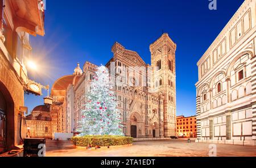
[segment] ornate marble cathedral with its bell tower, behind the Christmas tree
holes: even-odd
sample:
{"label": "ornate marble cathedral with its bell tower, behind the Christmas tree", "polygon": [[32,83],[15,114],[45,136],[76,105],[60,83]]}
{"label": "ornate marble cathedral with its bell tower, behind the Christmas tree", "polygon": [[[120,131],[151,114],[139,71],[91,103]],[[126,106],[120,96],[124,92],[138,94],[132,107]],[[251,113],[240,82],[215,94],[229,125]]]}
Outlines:
{"label": "ornate marble cathedral with its bell tower, behind the Christmas tree", "polygon": [[[146,64],[137,52],[130,51],[117,42],[113,45],[113,57],[106,67],[114,86],[118,112],[122,116],[123,133],[126,136],[176,135],[175,51],[176,44],[167,33],[150,45],[151,65]],[[66,123],[66,128],[71,128],[66,130],[68,133],[76,132],[80,127],[81,112],[86,103],[85,95],[90,90],[90,82],[96,71],[97,65],[85,62],[82,73],[75,72],[72,75],[72,79],[77,78],[77,81],[70,81],[69,86],[61,84],[66,87],[61,108],[66,109],[63,110],[63,123]],[[56,84],[54,87],[56,88]],[[59,91],[53,91],[52,96],[56,99],[54,93]],[[70,124],[68,121],[71,121]]]}

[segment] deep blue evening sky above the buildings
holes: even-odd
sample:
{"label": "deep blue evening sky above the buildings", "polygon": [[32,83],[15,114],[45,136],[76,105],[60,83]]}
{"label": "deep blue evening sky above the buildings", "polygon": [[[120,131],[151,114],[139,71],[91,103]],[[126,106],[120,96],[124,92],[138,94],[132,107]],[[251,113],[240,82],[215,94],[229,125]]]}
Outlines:
{"label": "deep blue evening sky above the buildings", "polygon": [[[30,78],[52,86],[57,78],[72,74],[77,62],[105,65],[115,41],[150,64],[149,45],[164,31],[177,44],[177,115],[195,115],[196,63],[242,2],[217,0],[212,11],[208,0],[47,1],[46,35],[31,37],[40,70],[29,71]],[[24,98],[29,111],[43,104],[43,96]]]}

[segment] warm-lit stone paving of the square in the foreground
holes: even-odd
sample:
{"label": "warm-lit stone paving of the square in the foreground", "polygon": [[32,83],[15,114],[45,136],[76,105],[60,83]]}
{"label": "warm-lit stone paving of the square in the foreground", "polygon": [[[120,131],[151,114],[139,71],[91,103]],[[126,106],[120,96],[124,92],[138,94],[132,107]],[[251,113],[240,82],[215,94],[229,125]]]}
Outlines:
{"label": "warm-lit stone paving of the square in the foreground", "polygon": [[[256,156],[255,146],[239,145],[217,145],[217,156]],[[204,157],[208,156],[209,144],[187,143],[187,139],[163,140],[163,141],[141,141],[134,142],[132,146],[109,148],[109,149],[75,149],[68,141],[47,141],[46,155],[50,157],[82,157],[82,156],[156,156],[156,157]]]}

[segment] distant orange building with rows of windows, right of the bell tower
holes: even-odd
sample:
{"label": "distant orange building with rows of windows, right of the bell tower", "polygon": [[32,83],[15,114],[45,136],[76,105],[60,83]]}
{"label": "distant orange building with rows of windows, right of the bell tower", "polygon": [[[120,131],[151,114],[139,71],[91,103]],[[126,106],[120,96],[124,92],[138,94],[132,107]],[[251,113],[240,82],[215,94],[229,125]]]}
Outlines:
{"label": "distant orange building with rows of windows, right of the bell tower", "polygon": [[177,136],[196,137],[196,116],[177,116]]}

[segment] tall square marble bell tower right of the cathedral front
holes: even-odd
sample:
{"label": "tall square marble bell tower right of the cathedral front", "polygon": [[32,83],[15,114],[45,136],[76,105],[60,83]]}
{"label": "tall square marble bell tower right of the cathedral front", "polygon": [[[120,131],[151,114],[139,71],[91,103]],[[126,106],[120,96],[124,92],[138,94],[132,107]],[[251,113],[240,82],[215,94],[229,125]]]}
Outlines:
{"label": "tall square marble bell tower right of the cathedral front", "polygon": [[152,94],[162,97],[159,112],[163,114],[164,137],[176,136],[176,44],[167,33],[150,45]]}

